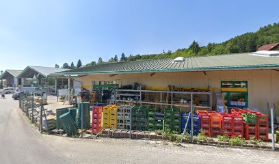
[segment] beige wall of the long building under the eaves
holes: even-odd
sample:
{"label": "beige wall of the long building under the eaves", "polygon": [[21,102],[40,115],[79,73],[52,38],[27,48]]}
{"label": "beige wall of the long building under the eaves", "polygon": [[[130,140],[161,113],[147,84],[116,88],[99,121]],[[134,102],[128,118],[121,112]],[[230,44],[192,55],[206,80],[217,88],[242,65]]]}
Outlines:
{"label": "beige wall of the long building under the eaves", "polygon": [[[209,85],[220,90],[221,81],[248,81],[248,107],[250,109],[269,113],[267,107],[278,108],[279,103],[279,72],[276,70],[230,70],[206,72],[161,72],[150,76],[150,73],[92,74],[81,77],[82,86],[92,90],[92,81],[120,81],[120,85],[135,82],[146,87],[167,88],[204,87]],[[279,111],[279,110],[278,110]],[[278,112],[279,114],[279,112]]]}

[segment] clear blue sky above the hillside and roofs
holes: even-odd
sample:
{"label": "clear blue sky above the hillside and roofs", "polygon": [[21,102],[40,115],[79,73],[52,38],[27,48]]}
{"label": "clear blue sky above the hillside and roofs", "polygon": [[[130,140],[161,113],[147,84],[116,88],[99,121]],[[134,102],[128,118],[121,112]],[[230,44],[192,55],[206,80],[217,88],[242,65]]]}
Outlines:
{"label": "clear blue sky above the hillside and roofs", "polygon": [[279,22],[279,1],[0,0],[0,70],[222,42]]}

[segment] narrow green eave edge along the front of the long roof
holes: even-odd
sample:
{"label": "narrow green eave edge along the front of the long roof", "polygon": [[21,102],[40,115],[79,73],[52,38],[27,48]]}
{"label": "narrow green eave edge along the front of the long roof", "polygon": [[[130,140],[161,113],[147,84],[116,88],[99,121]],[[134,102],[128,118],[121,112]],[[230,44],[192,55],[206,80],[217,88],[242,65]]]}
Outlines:
{"label": "narrow green eave edge along the front of the long roof", "polygon": [[198,71],[224,71],[224,70],[266,70],[278,69],[279,64],[263,64],[249,66],[217,66],[217,67],[196,67],[196,68],[166,68],[157,70],[114,70],[114,71],[94,71],[94,72],[57,72],[54,76],[77,75],[79,77],[88,74],[131,74],[131,73],[155,73],[155,72],[198,72]]}

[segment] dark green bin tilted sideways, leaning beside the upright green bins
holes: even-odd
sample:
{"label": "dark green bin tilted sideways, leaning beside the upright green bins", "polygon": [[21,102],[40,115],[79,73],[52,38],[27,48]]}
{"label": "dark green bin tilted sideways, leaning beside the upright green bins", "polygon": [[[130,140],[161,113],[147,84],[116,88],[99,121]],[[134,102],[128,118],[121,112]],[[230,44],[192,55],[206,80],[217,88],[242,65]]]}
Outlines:
{"label": "dark green bin tilted sideways, leaning beside the upright green bins", "polygon": [[67,134],[72,134],[77,131],[77,126],[75,125],[75,122],[72,119],[72,115],[70,115],[70,112],[60,115],[59,120],[63,126],[64,131]]}

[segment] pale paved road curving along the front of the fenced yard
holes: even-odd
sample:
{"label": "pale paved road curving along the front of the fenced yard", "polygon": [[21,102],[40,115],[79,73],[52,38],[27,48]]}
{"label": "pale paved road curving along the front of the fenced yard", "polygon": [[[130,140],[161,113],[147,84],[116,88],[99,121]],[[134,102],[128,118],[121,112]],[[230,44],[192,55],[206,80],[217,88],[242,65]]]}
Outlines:
{"label": "pale paved road curving along the front of the fenced yard", "polygon": [[77,139],[42,135],[17,108],[0,100],[0,163],[279,163],[279,152],[162,141]]}

